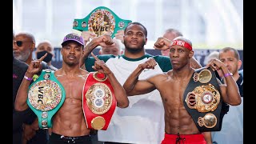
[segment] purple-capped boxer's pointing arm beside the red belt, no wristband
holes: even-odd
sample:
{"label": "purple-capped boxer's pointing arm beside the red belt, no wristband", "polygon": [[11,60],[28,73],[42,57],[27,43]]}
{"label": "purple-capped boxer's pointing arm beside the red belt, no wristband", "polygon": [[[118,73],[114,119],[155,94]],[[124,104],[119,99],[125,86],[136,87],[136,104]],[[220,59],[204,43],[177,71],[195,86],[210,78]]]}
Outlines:
{"label": "purple-capped boxer's pointing arm beside the red belt, no wristband", "polygon": [[117,78],[115,78],[112,71],[106,66],[105,62],[98,59],[93,53],[91,55],[96,59],[94,62],[93,69],[97,70],[99,73],[106,74],[106,77],[110,80],[111,85],[114,89],[114,95],[117,99],[117,106],[121,108],[125,108],[129,106],[129,100],[126,95],[126,91],[123,89],[122,85],[118,82]]}

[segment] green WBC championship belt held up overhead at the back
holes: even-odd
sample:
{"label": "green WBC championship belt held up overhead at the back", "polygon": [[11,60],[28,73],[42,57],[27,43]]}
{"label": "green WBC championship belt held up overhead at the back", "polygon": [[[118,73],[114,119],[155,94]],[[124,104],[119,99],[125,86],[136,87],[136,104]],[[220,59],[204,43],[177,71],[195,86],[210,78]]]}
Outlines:
{"label": "green WBC championship belt held up overhead at the back", "polygon": [[130,20],[119,18],[114,12],[104,6],[99,6],[82,19],[74,19],[73,29],[79,31],[93,32],[98,36],[110,34],[114,38],[114,34],[118,30],[125,30]]}

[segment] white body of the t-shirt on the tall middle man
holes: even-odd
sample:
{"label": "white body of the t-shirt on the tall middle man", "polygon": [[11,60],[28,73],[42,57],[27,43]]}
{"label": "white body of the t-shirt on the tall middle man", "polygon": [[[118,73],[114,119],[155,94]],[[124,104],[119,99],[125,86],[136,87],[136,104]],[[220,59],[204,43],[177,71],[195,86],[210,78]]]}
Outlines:
{"label": "white body of the t-shirt on the tall middle man", "polygon": [[[130,59],[110,58],[106,65],[114,73],[121,85],[126,78],[148,57]],[[170,60],[169,60],[170,61]],[[162,74],[159,65],[154,70],[143,70],[138,79]],[[107,130],[98,130],[98,141],[124,142],[136,144],[159,144],[165,133],[164,108],[158,90],[148,94],[128,97],[130,104],[126,108],[116,107]]]}

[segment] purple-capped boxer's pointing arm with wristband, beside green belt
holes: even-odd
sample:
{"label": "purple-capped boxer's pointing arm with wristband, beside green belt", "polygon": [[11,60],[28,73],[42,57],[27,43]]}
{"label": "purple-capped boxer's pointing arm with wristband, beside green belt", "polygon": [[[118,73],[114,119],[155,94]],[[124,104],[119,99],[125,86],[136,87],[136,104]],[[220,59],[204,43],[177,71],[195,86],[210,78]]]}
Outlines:
{"label": "purple-capped boxer's pointing arm with wristband, beside green belt", "polygon": [[40,70],[42,70],[42,60],[43,58],[46,58],[45,54],[40,59],[32,61],[30,63],[29,68],[26,70],[25,76],[22,80],[21,85],[18,88],[18,92],[15,99],[14,108],[17,111],[23,111],[28,108],[28,105],[26,103],[27,99],[27,92],[30,86],[30,82],[32,81],[32,78],[34,74],[37,74]]}

